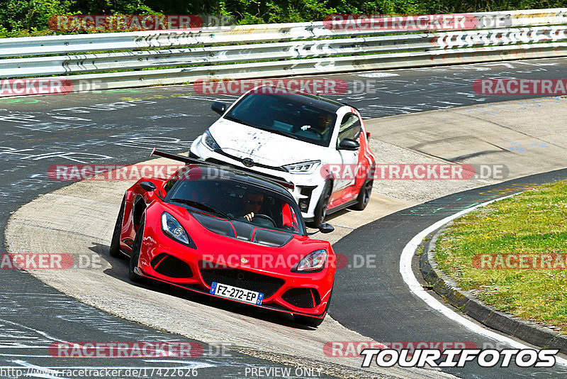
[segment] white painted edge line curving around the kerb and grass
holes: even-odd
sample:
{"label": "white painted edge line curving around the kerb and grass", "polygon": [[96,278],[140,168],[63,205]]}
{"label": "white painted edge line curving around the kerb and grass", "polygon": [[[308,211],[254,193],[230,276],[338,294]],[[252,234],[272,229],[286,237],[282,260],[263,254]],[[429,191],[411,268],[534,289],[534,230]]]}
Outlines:
{"label": "white painted edge line curving around the kerb and grass", "polygon": [[[445,217],[444,219],[439,220],[435,224],[420,231],[420,233],[414,236],[411,239],[411,241],[408,242],[408,244],[405,245],[405,247],[403,248],[402,256],[400,257],[400,274],[402,274],[403,281],[408,285],[408,287],[410,287],[410,291],[412,292],[413,295],[420,297],[420,299],[426,302],[427,305],[429,305],[436,311],[444,314],[444,316],[448,317],[449,319],[458,322],[462,326],[466,327],[466,329],[469,329],[474,333],[481,334],[481,336],[494,339],[495,341],[509,344],[513,348],[530,348],[529,346],[524,345],[521,342],[515,341],[507,336],[504,336],[503,334],[499,334],[496,333],[495,331],[485,329],[483,326],[480,326],[472,322],[471,320],[462,317],[461,314],[447,307],[446,304],[439,302],[439,300],[437,300],[435,297],[427,293],[427,291],[423,289],[420,283],[417,282],[417,278],[415,278],[415,275],[413,275],[413,270],[412,270],[412,258],[415,255],[415,250],[417,249],[417,246],[419,246],[420,243],[423,241],[423,238],[425,238],[427,235],[431,234],[433,231],[439,229],[444,224],[447,224],[449,221],[452,221],[459,216],[467,214],[468,212],[472,212],[473,210],[478,209],[480,207],[484,207],[485,205],[488,205],[490,203],[496,202],[498,200],[506,199],[507,197],[512,197],[515,195],[516,194],[510,194],[505,197],[499,197],[498,199],[493,199],[490,200],[489,202],[484,202],[474,207],[464,209],[463,211],[453,214],[452,216]],[[562,366],[567,366],[567,359],[556,357],[556,363],[559,363]]]}

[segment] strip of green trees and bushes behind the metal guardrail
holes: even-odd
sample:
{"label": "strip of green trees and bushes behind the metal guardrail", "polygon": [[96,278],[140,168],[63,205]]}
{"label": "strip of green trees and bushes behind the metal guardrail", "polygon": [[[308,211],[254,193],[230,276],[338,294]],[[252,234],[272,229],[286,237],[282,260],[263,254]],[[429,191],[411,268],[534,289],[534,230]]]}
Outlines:
{"label": "strip of green trees and bushes behind the metal guardrail", "polygon": [[0,0],[0,36],[50,34],[56,14],[199,14],[237,23],[321,21],[330,13],[435,14],[544,9],[567,0]]}

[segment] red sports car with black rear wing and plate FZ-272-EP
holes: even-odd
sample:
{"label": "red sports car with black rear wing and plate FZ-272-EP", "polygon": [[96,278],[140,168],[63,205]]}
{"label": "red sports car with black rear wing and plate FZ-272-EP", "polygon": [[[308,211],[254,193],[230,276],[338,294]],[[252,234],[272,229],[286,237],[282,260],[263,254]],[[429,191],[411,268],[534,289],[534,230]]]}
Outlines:
{"label": "red sports car with black rear wing and plate FZ-272-EP", "polygon": [[[169,180],[142,178],[124,195],[110,254],[130,256],[130,280],[159,280],[320,325],[335,253],[329,242],[308,236],[284,187],[291,184],[154,154],[186,165]],[[333,228],[321,224],[319,230]]]}

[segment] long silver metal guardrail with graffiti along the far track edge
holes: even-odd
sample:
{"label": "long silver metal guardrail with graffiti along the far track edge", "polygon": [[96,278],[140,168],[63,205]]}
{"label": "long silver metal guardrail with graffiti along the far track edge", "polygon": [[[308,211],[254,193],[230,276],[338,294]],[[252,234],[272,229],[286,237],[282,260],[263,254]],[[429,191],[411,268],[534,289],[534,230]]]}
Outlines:
{"label": "long silver metal guardrail with graffiti along the far track edge", "polygon": [[92,81],[123,88],[567,56],[567,9],[471,15],[474,29],[430,33],[321,21],[1,38],[0,78],[64,76],[80,91]]}

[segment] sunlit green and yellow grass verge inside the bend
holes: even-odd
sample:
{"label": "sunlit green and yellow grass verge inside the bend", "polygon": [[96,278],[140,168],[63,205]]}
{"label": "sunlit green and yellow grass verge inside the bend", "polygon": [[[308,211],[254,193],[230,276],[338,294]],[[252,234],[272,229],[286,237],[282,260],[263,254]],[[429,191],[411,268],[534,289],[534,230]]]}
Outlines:
{"label": "sunlit green and yellow grass verge inside the bend", "polygon": [[456,219],[435,251],[444,272],[486,304],[567,333],[567,181]]}

